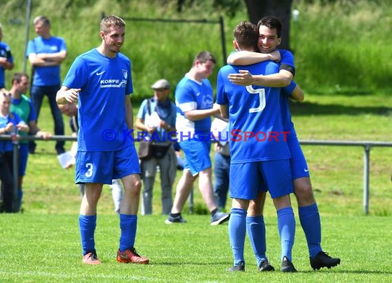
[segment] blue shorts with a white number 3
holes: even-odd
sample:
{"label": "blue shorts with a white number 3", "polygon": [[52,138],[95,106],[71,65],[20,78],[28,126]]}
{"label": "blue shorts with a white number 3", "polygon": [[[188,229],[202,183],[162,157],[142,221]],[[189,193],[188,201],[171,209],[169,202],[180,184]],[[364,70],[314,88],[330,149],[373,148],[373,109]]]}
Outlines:
{"label": "blue shorts with a white number 3", "polygon": [[78,151],[76,153],[75,183],[111,185],[113,179],[140,174],[135,146],[116,151]]}

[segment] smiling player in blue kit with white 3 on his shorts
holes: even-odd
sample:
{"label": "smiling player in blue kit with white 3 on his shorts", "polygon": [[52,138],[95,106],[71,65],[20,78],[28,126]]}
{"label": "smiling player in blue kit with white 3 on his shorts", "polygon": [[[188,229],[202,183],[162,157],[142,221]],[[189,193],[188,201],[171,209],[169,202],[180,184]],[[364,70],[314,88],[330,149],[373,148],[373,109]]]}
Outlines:
{"label": "smiling player in blue kit with white 3 on his shorts", "polygon": [[133,92],[131,61],[120,53],[125,23],[106,16],[100,23],[99,47],[76,58],[58,104],[78,102],[78,152],[76,183],[85,183],[79,227],[85,264],[100,264],[94,241],[97,204],[103,184],[121,179],[124,196],[120,205],[120,247],[117,261],[147,264],[134,248],[140,197],[140,166],[133,144]]}

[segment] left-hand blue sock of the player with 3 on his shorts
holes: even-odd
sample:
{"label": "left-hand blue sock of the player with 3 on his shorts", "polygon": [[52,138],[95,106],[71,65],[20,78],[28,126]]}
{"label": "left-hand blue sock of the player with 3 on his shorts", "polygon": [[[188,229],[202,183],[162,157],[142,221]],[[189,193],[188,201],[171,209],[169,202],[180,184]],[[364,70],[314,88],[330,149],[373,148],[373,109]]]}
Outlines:
{"label": "left-hand blue sock of the player with 3 on his shorts", "polygon": [[79,214],[80,238],[82,239],[83,256],[89,252],[95,252],[94,231],[96,230],[96,215]]}

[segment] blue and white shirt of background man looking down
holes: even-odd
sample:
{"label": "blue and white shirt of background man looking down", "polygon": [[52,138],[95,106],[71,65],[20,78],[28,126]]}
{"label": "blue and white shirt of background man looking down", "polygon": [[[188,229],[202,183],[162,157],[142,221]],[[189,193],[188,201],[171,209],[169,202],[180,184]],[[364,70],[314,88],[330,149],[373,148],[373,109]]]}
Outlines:
{"label": "blue and white shirt of background man looking down", "polygon": [[213,108],[213,87],[206,78],[197,82],[188,76],[184,76],[175,88],[175,104],[177,105],[177,119],[175,128],[179,133],[180,141],[192,137],[193,133],[208,135],[211,128],[211,117],[197,121],[190,121],[184,112],[191,110],[203,110]]}

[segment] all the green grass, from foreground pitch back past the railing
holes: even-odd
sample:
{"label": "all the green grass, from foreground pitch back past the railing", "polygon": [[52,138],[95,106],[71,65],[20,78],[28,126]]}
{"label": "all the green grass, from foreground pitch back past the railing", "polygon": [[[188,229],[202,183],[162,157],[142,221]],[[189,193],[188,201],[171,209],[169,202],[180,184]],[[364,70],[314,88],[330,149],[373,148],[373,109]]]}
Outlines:
{"label": "all the green grass, from foreground pitch back past the railing", "polygon": [[[293,120],[301,139],[389,141],[392,98],[388,95],[307,95],[293,104]],[[135,113],[138,105],[135,105]],[[52,129],[47,104],[39,125]],[[67,131],[69,129],[67,128]],[[69,132],[68,132],[69,133]],[[68,142],[67,147],[71,145]],[[296,274],[259,274],[249,242],[246,273],[226,273],[232,264],[227,224],[211,227],[197,186],[195,213],[184,207],[186,225],[165,225],[160,215],[160,184],[154,190],[154,214],[139,216],[135,247],[151,258],[148,266],[118,264],[120,229],[108,186],[98,205],[96,244],[99,267],[81,264],[74,170],[63,170],[54,141],[39,141],[25,176],[23,214],[0,214],[1,282],[391,282],[392,148],[371,150],[370,210],[362,208],[363,148],[303,146],[312,172],[314,193],[323,225],[323,248],[342,259],[339,267],[312,271],[305,237],[296,213]],[[177,180],[181,172],[177,174]],[[159,177],[159,175],[157,176]],[[174,191],[175,189],[173,189]],[[173,192],[174,193],[174,192]],[[268,256],[279,268],[280,243],[276,212],[265,209]],[[20,256],[23,255],[23,256]]]}

